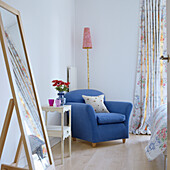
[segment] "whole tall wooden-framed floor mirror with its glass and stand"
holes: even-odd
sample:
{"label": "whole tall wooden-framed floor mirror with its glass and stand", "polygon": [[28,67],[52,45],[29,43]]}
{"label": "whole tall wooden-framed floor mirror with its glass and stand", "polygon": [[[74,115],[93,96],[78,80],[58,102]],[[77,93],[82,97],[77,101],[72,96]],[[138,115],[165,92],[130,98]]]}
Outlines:
{"label": "whole tall wooden-framed floor mirror with its glass and stand", "polygon": [[17,167],[21,143],[24,145],[28,169],[55,169],[51,148],[43,120],[34,77],[30,66],[18,10],[0,0],[0,40],[13,99],[10,100],[0,142],[2,155],[7,125],[13,107],[16,110],[21,139],[13,165],[2,165],[2,169]]}

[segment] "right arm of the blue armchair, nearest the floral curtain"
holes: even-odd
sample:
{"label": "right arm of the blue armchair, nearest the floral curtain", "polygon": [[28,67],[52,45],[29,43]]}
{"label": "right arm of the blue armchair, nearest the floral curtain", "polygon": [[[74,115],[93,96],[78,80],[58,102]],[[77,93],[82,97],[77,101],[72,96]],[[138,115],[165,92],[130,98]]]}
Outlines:
{"label": "right arm of the blue armchair, nearest the floral curtain", "polygon": [[126,122],[129,122],[130,113],[132,111],[132,103],[118,102],[118,101],[105,101],[105,105],[109,112],[121,113],[126,116]]}

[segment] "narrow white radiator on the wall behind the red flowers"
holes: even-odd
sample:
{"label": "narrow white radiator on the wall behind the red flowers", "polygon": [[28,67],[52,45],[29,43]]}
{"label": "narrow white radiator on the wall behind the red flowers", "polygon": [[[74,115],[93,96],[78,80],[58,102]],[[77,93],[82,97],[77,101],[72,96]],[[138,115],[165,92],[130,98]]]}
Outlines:
{"label": "narrow white radiator on the wall behind the red flowers", "polygon": [[67,81],[70,82],[69,91],[77,89],[77,68],[67,67]]}

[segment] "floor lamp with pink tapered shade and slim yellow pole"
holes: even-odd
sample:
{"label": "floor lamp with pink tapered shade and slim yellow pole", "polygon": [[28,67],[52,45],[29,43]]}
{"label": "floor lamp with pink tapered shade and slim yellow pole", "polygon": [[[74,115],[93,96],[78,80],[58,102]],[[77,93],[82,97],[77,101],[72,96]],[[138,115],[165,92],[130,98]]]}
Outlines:
{"label": "floor lamp with pink tapered shade and slim yellow pole", "polygon": [[88,80],[88,89],[90,88],[90,79],[89,79],[89,49],[92,49],[90,28],[84,28],[83,36],[83,49],[87,49],[87,80]]}

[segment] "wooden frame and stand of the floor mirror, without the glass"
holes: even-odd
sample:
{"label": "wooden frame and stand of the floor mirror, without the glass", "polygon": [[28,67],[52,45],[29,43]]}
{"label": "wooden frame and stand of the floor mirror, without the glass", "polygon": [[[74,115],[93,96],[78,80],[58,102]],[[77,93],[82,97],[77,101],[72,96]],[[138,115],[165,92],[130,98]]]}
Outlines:
{"label": "wooden frame and stand of the floor mirror, without the glass", "polygon": [[[46,128],[45,128],[45,123],[43,121],[43,115],[42,115],[39,99],[38,99],[38,96],[37,96],[37,90],[36,90],[36,87],[35,87],[35,84],[34,84],[34,78],[33,78],[32,70],[31,70],[31,66],[30,66],[30,63],[29,63],[29,58],[28,58],[28,54],[27,54],[27,50],[26,50],[26,44],[25,44],[25,39],[24,39],[24,34],[23,34],[23,27],[22,27],[20,13],[19,13],[18,10],[14,9],[11,6],[9,6],[8,4],[4,3],[2,0],[0,0],[0,8],[3,8],[4,10],[12,13],[17,18],[17,23],[18,23],[18,27],[19,27],[19,32],[20,32],[21,41],[22,41],[22,45],[23,45],[23,50],[24,50],[24,53],[25,53],[25,60],[26,60],[26,64],[27,64],[27,67],[28,67],[28,73],[30,75],[30,83],[32,85],[33,94],[34,94],[34,97],[35,97],[36,108],[37,108],[40,124],[41,124],[41,127],[42,127],[44,142],[46,144],[47,154],[48,154],[48,158],[49,158],[49,166],[46,168],[46,170],[54,170],[55,165],[54,165],[53,156],[52,156],[52,152],[51,152],[51,148],[50,148],[50,144],[49,144],[49,140],[48,140],[48,135],[47,135],[47,131],[46,131]],[[17,115],[17,119],[18,119],[18,125],[19,125],[20,132],[21,132],[21,137],[20,137],[20,140],[19,140],[18,148],[17,148],[16,155],[15,155],[13,163],[11,165],[2,164],[1,169],[2,170],[17,170],[17,169],[18,170],[21,170],[21,169],[22,170],[23,169],[24,170],[25,169],[34,170],[35,169],[34,160],[33,160],[33,157],[32,157],[32,151],[31,151],[31,146],[30,146],[30,142],[29,142],[29,139],[28,139],[28,134],[27,134],[26,129],[25,129],[24,116],[22,114],[22,110],[21,110],[20,105],[19,105],[20,100],[19,100],[19,97],[17,95],[17,90],[16,90],[17,87],[16,87],[16,83],[15,83],[14,74],[12,74],[13,70],[12,70],[12,67],[10,65],[9,49],[8,49],[8,45],[7,45],[7,42],[6,42],[6,35],[5,35],[5,30],[4,30],[4,26],[3,26],[3,22],[2,22],[1,13],[0,13],[0,42],[1,42],[2,51],[3,51],[3,55],[4,55],[4,60],[5,60],[7,74],[8,74],[9,84],[10,84],[11,92],[12,92],[12,96],[13,96],[13,98],[10,99],[10,101],[9,101],[5,121],[4,121],[4,124],[3,124],[3,129],[2,129],[2,132],[1,132],[1,136],[0,136],[0,159],[1,159],[1,156],[2,156],[3,149],[4,149],[4,144],[5,144],[5,141],[6,141],[7,132],[8,132],[8,129],[9,129],[9,124],[10,124],[11,117],[12,117],[12,114],[13,114],[14,106],[15,106],[16,115]],[[20,153],[21,153],[21,150],[22,150],[22,146],[24,146],[25,155],[26,155],[26,158],[27,158],[27,164],[28,164],[27,168],[19,168],[18,167],[19,157],[20,157]]]}

